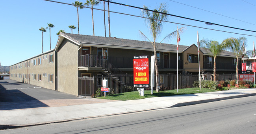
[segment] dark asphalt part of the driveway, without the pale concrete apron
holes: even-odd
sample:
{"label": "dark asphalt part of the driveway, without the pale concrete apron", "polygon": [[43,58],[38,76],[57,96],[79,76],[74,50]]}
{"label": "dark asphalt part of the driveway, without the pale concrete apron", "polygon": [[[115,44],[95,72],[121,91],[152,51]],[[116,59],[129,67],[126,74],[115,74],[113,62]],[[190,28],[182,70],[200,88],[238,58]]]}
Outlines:
{"label": "dark asphalt part of the driveway, without the pale concrete apron", "polygon": [[48,107],[41,100],[54,99],[81,98],[14,80],[0,80],[0,110]]}

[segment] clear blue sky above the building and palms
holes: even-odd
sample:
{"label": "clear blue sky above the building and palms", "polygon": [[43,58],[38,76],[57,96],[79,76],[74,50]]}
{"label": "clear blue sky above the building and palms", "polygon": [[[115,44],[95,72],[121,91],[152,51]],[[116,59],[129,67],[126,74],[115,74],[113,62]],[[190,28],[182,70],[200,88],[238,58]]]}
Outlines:
{"label": "clear blue sky above the building and palms", "polygon": [[[55,1],[71,4],[75,0]],[[84,3],[85,0],[81,0],[80,2]],[[256,17],[253,15],[256,11],[256,1],[254,0],[112,0],[112,2],[133,5],[136,7],[143,7],[143,5],[146,5],[148,6],[148,9],[152,10],[160,5],[160,3],[165,3],[167,4],[169,14],[256,31]],[[12,0],[12,3],[12,5],[4,2],[0,4],[0,25],[2,25],[0,29],[0,62],[3,66],[13,65],[42,53],[42,32],[39,31],[39,28],[48,27],[47,24],[49,23],[55,26],[51,28],[51,49],[54,49],[58,41],[58,35],[56,35],[56,33],[61,29],[66,31],[66,33],[71,33],[71,29],[68,26],[75,25],[77,27],[78,25],[77,10],[76,7],[72,5],[44,0]],[[95,8],[103,9],[103,2],[95,6]],[[108,6],[107,3],[105,3],[105,10],[107,9]],[[141,9],[123,5],[110,3],[109,10],[141,16]],[[104,12],[94,9],[93,16],[95,36],[105,36]],[[106,35],[108,37],[107,12],[105,19]],[[209,39],[216,40],[220,43],[229,37],[239,38],[243,36],[247,38],[246,50],[252,50],[253,41],[256,41],[256,37],[254,37],[256,36],[256,33],[254,32],[230,29],[217,25],[206,25],[203,22],[186,20],[174,16],[169,16],[168,21],[179,24],[164,22],[162,32],[160,36],[158,36],[156,42],[160,42],[169,33],[175,31],[177,26],[186,27],[186,31],[180,34],[181,40],[179,45],[189,46],[193,43],[197,45],[197,31],[199,33],[199,40]],[[194,25],[197,27],[180,24]],[[91,9],[79,9],[79,26],[80,34],[93,35]],[[198,27],[249,34],[253,36],[224,33]],[[148,41],[145,40],[145,38],[142,38],[139,30],[152,40],[147,24],[145,23],[145,18],[110,13],[111,37]],[[78,28],[74,29],[73,33],[78,34]],[[171,40],[165,40],[163,43],[176,44],[176,42],[176,38],[173,38]],[[46,32],[43,33],[43,52],[49,50],[50,33],[49,29],[46,29]]]}

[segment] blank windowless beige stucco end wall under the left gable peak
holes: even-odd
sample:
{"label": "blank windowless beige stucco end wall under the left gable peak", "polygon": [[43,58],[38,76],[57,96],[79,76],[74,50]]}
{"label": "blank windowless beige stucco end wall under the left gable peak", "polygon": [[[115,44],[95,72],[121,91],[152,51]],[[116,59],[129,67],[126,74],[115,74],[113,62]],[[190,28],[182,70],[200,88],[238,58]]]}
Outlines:
{"label": "blank windowless beige stucco end wall under the left gable peak", "polygon": [[63,40],[58,49],[58,91],[78,95],[78,45]]}

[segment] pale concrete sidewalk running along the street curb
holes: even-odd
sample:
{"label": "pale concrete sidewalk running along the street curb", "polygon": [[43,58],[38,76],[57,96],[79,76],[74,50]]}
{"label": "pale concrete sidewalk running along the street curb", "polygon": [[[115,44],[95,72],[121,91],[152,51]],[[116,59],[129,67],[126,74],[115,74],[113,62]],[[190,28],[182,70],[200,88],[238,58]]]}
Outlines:
{"label": "pale concrete sidewalk running along the street curb", "polygon": [[[163,109],[168,107],[179,107],[254,95],[256,95],[256,88],[154,97],[142,100],[0,110],[0,129]],[[94,100],[96,98],[91,99]]]}

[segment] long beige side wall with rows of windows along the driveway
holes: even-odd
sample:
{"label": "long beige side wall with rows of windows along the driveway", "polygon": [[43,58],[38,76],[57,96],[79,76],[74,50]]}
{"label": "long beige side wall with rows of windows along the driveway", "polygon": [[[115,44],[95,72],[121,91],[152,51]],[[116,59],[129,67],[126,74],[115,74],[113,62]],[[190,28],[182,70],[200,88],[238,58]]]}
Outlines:
{"label": "long beige side wall with rows of windows along the driveway", "polygon": [[[10,79],[55,90],[55,60],[49,62],[49,57],[52,54],[55,56],[55,52],[50,51],[12,65],[10,69]],[[38,63],[39,58],[41,58],[41,64]],[[34,65],[35,59],[36,65]],[[15,69],[14,66],[17,66],[17,68]],[[15,76],[15,74],[17,76]],[[34,74],[36,74],[35,80],[33,77]],[[39,74],[41,74],[41,80],[38,78]],[[49,74],[53,74],[53,82],[49,81]]]}

